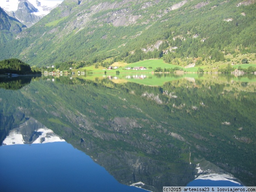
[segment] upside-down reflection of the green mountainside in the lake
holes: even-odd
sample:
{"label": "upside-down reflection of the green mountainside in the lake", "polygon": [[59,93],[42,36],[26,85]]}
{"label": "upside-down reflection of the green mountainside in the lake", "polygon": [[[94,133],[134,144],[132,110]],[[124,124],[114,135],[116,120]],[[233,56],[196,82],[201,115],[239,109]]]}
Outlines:
{"label": "upside-down reflection of the green mountainside in the lake", "polygon": [[[0,89],[0,142],[36,119],[125,185],[162,191],[210,174],[256,184],[256,83],[250,79],[176,76],[152,87],[79,78]],[[28,142],[33,137],[39,138],[34,133]]]}

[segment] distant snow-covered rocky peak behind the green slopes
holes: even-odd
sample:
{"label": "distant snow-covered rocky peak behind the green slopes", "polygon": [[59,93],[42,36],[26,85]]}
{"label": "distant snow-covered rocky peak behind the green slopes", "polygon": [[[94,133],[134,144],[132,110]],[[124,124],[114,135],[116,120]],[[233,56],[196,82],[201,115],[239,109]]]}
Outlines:
{"label": "distant snow-covered rocky peak behind the green slopes", "polygon": [[40,0],[40,2],[38,0],[4,0],[0,2],[0,6],[10,17],[30,27],[61,2],[62,0]]}

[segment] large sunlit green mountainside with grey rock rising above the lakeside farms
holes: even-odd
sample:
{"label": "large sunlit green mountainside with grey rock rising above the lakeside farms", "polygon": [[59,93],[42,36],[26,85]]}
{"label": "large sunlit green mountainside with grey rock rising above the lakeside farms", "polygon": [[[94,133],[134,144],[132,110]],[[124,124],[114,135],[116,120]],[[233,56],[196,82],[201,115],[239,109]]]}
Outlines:
{"label": "large sunlit green mountainside with grey rock rising above the lakeside farms", "polygon": [[255,0],[64,0],[3,44],[0,59],[30,65],[68,61],[83,67],[106,58],[128,63],[224,61],[256,53]]}

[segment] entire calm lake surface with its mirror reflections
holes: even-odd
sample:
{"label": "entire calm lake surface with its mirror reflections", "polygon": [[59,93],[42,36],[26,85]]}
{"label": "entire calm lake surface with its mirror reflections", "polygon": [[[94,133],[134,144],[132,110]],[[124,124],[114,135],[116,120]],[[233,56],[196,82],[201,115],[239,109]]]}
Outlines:
{"label": "entire calm lake surface with its mirror reflections", "polygon": [[1,190],[255,186],[255,92],[218,74],[0,79]]}

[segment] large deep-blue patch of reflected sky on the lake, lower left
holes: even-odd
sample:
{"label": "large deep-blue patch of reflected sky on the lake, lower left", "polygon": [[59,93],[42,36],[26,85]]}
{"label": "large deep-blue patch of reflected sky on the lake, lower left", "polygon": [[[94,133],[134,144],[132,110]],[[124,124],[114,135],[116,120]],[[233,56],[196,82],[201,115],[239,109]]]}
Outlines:
{"label": "large deep-blue patch of reflected sky on the lake, lower left", "polygon": [[0,154],[1,191],[143,191],[120,184],[67,142],[6,145]]}

